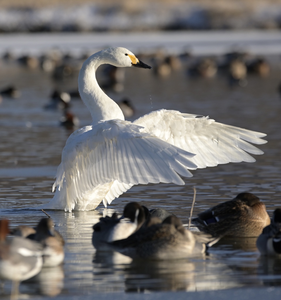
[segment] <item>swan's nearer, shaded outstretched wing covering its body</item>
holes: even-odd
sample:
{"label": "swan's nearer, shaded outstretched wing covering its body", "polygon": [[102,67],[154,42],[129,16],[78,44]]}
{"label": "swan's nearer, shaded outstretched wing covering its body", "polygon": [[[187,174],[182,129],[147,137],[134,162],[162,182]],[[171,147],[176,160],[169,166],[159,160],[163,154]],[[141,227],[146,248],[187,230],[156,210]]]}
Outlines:
{"label": "swan's nearer, shaded outstretched wing covering its body", "polygon": [[194,154],[140,129],[131,122],[109,120],[80,128],[69,137],[53,186],[65,185],[67,209],[98,185],[113,182],[114,197],[114,190],[120,195],[134,184],[184,184],[178,174],[192,176],[187,169],[197,168],[190,161]]}

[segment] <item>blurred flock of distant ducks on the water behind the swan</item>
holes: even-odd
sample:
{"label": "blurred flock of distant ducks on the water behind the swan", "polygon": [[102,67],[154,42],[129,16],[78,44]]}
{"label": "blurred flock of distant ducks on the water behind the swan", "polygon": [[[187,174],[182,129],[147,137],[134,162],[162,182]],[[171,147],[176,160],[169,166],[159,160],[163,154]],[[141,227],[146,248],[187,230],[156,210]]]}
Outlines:
{"label": "blurred flock of distant ducks on the water behind the swan", "polygon": [[[189,77],[212,78],[222,71],[229,79],[230,85],[247,85],[247,74],[257,74],[261,77],[267,77],[270,73],[270,64],[263,57],[249,58],[246,53],[232,52],[226,54],[221,63],[214,57],[192,58],[188,53],[181,55],[165,55],[158,51],[153,54],[151,64],[155,76],[165,78],[172,72],[182,68],[182,64],[187,65],[187,74]],[[82,57],[84,59],[85,56]],[[4,61],[12,61],[14,58],[10,53],[3,56]],[[70,55],[62,55],[59,52],[52,52],[43,55],[40,58],[24,55],[17,58],[20,65],[30,69],[41,68],[57,81],[67,80],[77,71],[76,61]],[[190,62],[191,61],[191,62]],[[112,91],[118,94],[124,89],[125,70],[112,65],[107,65],[103,69],[104,81],[101,85],[105,91]],[[280,88],[278,87],[278,90]],[[14,85],[2,87],[0,90],[1,98],[19,98],[21,92]],[[58,88],[49,95],[50,101],[44,106],[44,109],[62,110],[63,116],[60,119],[60,125],[67,129],[77,128],[79,126],[78,118],[71,112],[70,100],[80,99],[78,91],[61,91]],[[131,118],[135,113],[132,101],[128,98],[120,98],[117,102],[126,118]]]}

